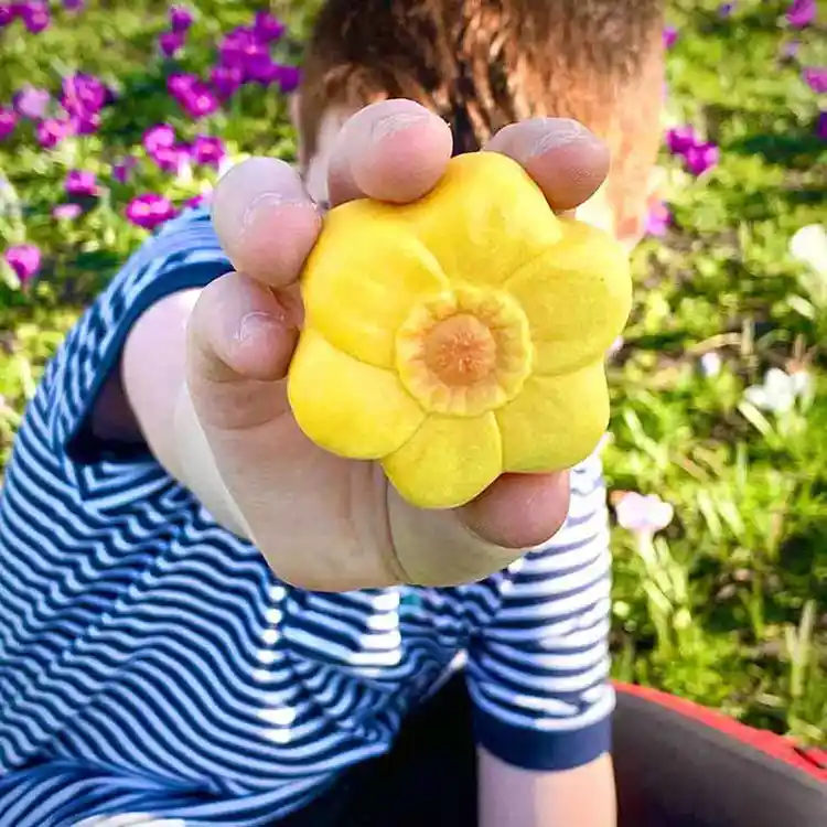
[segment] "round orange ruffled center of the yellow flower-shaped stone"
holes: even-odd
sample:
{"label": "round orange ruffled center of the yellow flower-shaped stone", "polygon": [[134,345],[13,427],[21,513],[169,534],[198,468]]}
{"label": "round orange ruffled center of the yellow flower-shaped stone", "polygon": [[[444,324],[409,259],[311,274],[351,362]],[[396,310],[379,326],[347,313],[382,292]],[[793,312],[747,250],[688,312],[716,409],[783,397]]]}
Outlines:
{"label": "round orange ruffled center of the yellow flower-shaped stone", "polygon": [[473,417],[502,407],[531,372],[528,320],[509,294],[459,287],[417,304],[396,335],[396,367],[427,410]]}

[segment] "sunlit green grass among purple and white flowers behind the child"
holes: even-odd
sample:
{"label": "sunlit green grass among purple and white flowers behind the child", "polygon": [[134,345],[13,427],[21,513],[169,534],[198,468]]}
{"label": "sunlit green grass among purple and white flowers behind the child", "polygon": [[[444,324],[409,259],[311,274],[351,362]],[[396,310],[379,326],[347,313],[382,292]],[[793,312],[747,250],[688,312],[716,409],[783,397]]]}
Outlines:
{"label": "sunlit green grass among purple and white flowers behind the child", "polygon": [[[249,17],[239,3],[196,6],[201,45],[182,61],[193,71],[210,64],[221,30]],[[292,31],[286,58],[300,52],[307,6],[279,4]],[[669,118],[704,130],[721,162],[694,180],[664,158],[676,223],[635,256],[636,303],[611,367],[604,455],[613,491],[675,506],[654,544],[614,530],[617,677],[817,742],[827,733],[827,401],[815,393],[775,416],[743,400],[747,386],[790,359],[805,359],[817,391],[826,379],[827,288],[790,257],[788,243],[824,215],[827,144],[814,136],[818,101],[799,65],[777,58],[790,37],[778,23],[784,7],[743,0],[722,20],[715,3],[672,3],[680,37],[669,57]],[[0,465],[45,359],[144,235],[122,218],[128,197],[198,191],[198,180],[172,183],[142,163],[78,222],[50,215],[67,167],[108,180],[110,162],[152,123],[194,133],[164,93],[169,67],[153,56],[164,12],[153,0],[90,2],[58,14],[36,40],[0,35],[0,103],[23,82],[54,87],[65,67],[100,74],[125,95],[98,136],[52,154],[25,138],[0,144],[0,173],[21,212],[0,208],[0,238],[47,254],[28,291],[8,273],[0,279]],[[823,35],[801,33],[799,63],[827,62]],[[246,90],[208,128],[236,154],[293,151],[284,101],[273,95]],[[709,351],[722,357],[712,377],[699,367]]]}

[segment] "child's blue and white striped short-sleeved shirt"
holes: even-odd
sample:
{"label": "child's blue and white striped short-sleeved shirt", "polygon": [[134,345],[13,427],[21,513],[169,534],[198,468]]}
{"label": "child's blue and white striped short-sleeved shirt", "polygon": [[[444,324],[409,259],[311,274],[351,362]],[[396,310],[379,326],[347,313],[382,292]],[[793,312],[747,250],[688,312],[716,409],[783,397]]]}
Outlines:
{"label": "child's blue and white striped short-sleeved shirt", "polygon": [[229,265],[192,211],[147,243],[50,363],[0,492],[0,827],[148,813],[270,824],[387,751],[459,658],[479,739],[523,767],[609,747],[610,556],[592,458],[560,533],[455,588],[280,582],[142,449],[88,414],[163,296]]}

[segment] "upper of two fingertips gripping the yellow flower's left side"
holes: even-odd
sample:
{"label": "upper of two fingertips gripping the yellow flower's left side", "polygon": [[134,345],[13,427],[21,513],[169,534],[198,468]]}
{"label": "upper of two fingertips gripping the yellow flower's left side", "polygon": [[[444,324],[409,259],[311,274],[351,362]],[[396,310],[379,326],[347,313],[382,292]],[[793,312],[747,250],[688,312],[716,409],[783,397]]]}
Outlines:
{"label": "upper of two fingertips gripping the yellow flower's left side", "polygon": [[218,182],[213,224],[237,270],[283,287],[299,278],[322,219],[296,170],[275,158],[251,158]]}

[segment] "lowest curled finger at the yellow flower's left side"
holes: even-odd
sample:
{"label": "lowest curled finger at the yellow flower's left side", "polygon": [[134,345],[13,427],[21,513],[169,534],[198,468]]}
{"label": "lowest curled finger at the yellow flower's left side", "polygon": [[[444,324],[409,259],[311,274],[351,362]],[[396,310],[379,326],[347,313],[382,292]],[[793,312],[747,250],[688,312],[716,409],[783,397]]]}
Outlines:
{"label": "lowest curled finger at the yellow flower's left side", "polygon": [[186,378],[211,425],[256,428],[287,410],[283,383],[298,339],[300,301],[247,276],[222,276],[190,316]]}

